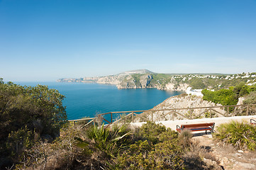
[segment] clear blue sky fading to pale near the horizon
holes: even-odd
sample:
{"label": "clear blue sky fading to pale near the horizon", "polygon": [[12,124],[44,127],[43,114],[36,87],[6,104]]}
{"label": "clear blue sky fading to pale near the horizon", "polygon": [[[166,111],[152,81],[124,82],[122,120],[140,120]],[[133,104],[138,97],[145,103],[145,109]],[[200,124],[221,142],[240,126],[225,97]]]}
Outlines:
{"label": "clear blue sky fading to pale near the horizon", "polygon": [[0,0],[4,81],[255,68],[255,0]]}

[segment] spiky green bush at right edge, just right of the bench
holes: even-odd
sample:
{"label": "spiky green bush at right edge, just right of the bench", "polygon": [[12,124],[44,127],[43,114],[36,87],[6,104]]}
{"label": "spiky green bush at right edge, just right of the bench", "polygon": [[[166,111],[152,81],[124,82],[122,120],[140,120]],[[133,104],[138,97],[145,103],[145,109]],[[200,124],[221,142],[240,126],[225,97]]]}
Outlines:
{"label": "spiky green bush at right edge, just right of the bench", "polygon": [[222,142],[229,143],[237,149],[256,149],[256,127],[248,123],[221,124],[214,137]]}

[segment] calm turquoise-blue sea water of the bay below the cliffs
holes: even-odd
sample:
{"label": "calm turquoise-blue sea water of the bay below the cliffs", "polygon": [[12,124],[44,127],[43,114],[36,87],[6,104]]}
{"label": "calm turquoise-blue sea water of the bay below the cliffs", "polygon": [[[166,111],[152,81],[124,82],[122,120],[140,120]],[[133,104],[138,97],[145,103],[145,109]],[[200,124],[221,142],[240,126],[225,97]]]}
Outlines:
{"label": "calm turquoise-blue sea water of the bay below the cliffs", "polygon": [[148,110],[181,91],[160,91],[157,89],[117,89],[106,84],[59,83],[59,82],[15,82],[22,86],[48,85],[66,96],[63,105],[67,106],[69,120],[94,117],[96,113],[111,111]]}

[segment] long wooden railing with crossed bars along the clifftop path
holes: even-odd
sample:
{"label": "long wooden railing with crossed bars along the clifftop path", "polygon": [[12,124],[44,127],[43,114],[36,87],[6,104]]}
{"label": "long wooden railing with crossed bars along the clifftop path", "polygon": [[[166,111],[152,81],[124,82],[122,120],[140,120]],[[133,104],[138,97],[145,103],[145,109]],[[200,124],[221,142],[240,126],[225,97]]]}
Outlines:
{"label": "long wooden railing with crossed bars along the clifftop path", "polygon": [[[155,115],[155,116],[154,116]],[[234,106],[210,106],[197,108],[169,108],[146,111],[116,111],[101,113],[96,118],[83,118],[78,120],[69,120],[69,122],[86,121],[85,126],[94,123],[94,125],[105,123],[111,125],[120,122],[157,122],[160,120],[177,120],[177,119],[196,119],[196,118],[213,118],[216,116],[230,117],[235,115],[256,115],[256,104],[234,105]]]}

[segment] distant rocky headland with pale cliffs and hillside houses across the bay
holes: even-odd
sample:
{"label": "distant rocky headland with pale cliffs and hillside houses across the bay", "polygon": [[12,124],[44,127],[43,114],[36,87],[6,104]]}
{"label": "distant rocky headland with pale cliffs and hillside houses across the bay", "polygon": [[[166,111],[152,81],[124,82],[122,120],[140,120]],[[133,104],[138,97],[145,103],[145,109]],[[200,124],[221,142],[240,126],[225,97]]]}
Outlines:
{"label": "distant rocky headland with pale cliffs and hillside houses across the bay", "polygon": [[256,73],[242,74],[158,74],[148,69],[137,69],[106,77],[57,79],[58,82],[114,84],[118,89],[155,88],[170,91],[192,89],[221,89],[243,81],[256,84]]}

